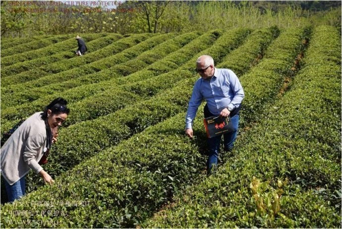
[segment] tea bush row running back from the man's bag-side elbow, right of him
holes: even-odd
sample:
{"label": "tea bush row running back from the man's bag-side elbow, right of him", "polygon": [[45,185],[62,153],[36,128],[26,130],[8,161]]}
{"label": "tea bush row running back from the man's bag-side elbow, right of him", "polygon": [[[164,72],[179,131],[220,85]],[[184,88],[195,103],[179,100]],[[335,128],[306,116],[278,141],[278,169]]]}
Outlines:
{"label": "tea bush row running back from the man's bag-side elbow, right of him", "polygon": [[[291,76],[291,67],[299,53],[303,51],[305,45],[303,40],[307,40],[311,33],[311,28],[288,28],[279,38],[271,44],[263,60],[253,68],[253,70],[240,77],[240,82],[245,89],[245,99],[243,101],[242,112],[246,117],[252,116],[257,111],[264,110],[265,104],[272,102],[279,92],[285,76]],[[244,122],[250,123],[255,120],[241,120],[241,127]]]}

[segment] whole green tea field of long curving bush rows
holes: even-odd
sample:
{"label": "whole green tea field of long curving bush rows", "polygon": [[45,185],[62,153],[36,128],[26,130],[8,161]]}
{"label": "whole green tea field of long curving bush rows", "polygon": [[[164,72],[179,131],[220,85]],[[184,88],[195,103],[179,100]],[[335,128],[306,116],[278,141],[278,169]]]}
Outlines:
{"label": "whole green tea field of long curving bush rows", "polygon": [[[1,40],[1,134],[56,97],[70,115],[5,228],[341,228],[341,34],[335,27]],[[23,45],[24,44],[24,45]],[[22,49],[17,47],[23,45]],[[200,55],[239,77],[239,134],[205,173]]]}

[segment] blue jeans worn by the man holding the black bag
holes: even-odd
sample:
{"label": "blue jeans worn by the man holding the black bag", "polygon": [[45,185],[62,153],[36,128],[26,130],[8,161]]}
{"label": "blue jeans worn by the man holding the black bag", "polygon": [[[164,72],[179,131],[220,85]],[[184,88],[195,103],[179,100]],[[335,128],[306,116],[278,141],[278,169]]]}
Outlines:
{"label": "blue jeans worn by the man holding the black bag", "polygon": [[[233,116],[230,116],[229,119],[229,131],[223,135],[225,151],[230,151],[233,148],[237,135],[237,128],[239,125],[239,112],[235,113],[234,111],[232,111],[231,114]],[[204,117],[208,118],[210,116],[214,115],[209,111],[208,104],[206,104],[204,107]],[[217,165],[220,152],[220,143],[221,135],[213,138],[208,138],[209,158],[207,160],[207,167],[209,170],[211,169],[213,164]]]}

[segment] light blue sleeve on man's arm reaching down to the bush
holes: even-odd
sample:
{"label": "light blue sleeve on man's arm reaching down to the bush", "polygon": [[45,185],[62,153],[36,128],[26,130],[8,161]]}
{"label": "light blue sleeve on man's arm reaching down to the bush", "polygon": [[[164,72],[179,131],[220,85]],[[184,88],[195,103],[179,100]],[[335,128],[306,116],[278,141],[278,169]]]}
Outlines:
{"label": "light blue sleeve on man's arm reaching down to the bush", "polygon": [[199,81],[195,83],[194,88],[192,90],[192,95],[189,101],[188,111],[186,113],[185,118],[185,129],[192,128],[192,122],[196,117],[197,109],[199,105],[201,105],[203,99],[203,95],[200,92],[198,83]]}

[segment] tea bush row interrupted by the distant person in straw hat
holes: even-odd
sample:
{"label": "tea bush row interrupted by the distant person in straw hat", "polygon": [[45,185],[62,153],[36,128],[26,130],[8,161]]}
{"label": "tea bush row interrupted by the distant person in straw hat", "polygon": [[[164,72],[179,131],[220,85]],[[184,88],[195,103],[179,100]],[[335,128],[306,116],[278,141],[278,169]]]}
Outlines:
{"label": "tea bush row interrupted by the distant person in straw hat", "polygon": [[[102,49],[112,44],[113,42],[123,38],[123,36],[119,34],[115,34],[115,33],[110,34],[105,37],[100,37],[100,38],[98,37],[101,34],[96,34],[96,35],[91,34],[91,36],[87,36],[87,35],[82,36],[88,48],[87,53],[91,53],[96,50]],[[1,77],[5,77],[5,76],[11,76],[11,77],[6,77],[6,79],[9,80],[10,83],[4,81],[3,80],[4,78],[1,78],[1,83],[2,84],[5,83],[4,85],[8,85],[8,84],[22,83],[25,81],[29,81],[29,79],[30,80],[35,79],[32,76],[28,77],[27,75],[30,75],[30,74],[27,72],[23,74],[19,74],[19,73],[29,71],[29,70],[36,70],[38,67],[41,67],[41,66],[47,66],[48,64],[51,64],[51,63],[58,63],[61,60],[70,59],[71,57],[76,57],[74,53],[76,49],[77,49],[77,42],[75,43],[75,39],[73,38],[66,40],[64,42],[59,42],[56,44],[55,47],[49,46],[49,48],[47,49],[39,49],[39,51],[37,51],[37,53],[39,53],[38,55],[40,56],[39,58],[24,61],[24,62],[19,62],[14,65],[2,68]],[[40,70],[43,71],[42,68],[40,68]],[[43,72],[45,73],[45,75],[48,74],[45,71]],[[16,76],[12,76],[12,75],[16,75]],[[36,78],[38,78],[38,76]]]}

